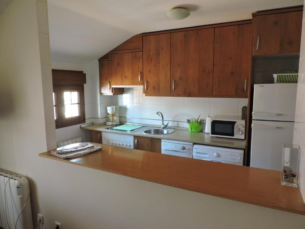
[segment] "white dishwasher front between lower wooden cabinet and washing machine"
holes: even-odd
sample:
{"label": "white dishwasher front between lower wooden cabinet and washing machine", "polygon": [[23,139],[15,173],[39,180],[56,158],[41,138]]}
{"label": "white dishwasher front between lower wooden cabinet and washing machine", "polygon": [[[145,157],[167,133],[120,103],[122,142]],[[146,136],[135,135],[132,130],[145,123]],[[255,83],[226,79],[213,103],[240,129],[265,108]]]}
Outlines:
{"label": "white dishwasher front between lower wooden cabinet and washing machine", "polygon": [[161,153],[173,156],[193,158],[193,143],[161,140]]}

